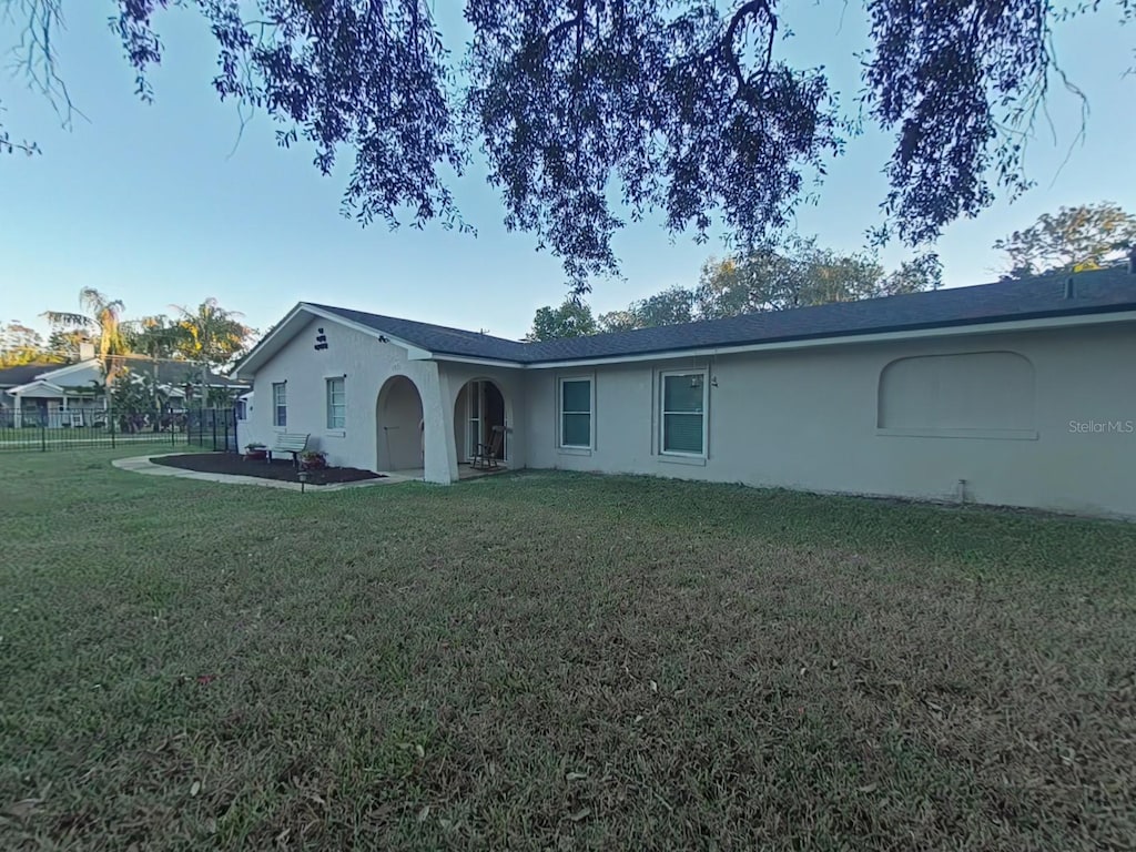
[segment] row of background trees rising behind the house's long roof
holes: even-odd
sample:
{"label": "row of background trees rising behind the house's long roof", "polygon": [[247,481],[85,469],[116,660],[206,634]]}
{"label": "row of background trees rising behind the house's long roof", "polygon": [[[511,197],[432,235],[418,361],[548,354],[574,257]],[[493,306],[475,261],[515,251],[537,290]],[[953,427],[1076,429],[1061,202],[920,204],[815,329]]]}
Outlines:
{"label": "row of background trees rising behind the house's long roof", "polygon": [[[994,243],[1005,254],[1004,279],[1104,268],[1121,262],[1133,247],[1136,216],[1109,201],[1062,207]],[[560,306],[536,311],[527,340],[579,337],[918,293],[939,287],[942,275],[934,252],[886,272],[871,252],[842,254],[821,248],[816,237],[796,236],[740,257],[710,258],[695,286],[675,285],[623,310],[595,316],[586,301],[571,293]]]}

